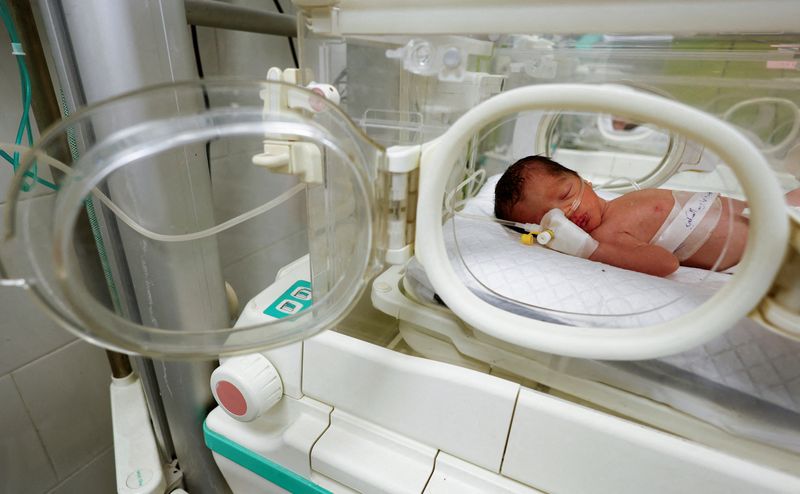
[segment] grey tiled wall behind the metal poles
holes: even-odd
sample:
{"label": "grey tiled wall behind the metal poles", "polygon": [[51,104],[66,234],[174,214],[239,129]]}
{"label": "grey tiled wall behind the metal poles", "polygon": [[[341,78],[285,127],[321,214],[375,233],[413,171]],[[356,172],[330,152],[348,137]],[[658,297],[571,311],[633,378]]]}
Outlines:
{"label": "grey tiled wall behind the metal poles", "polygon": [[[232,3],[274,11],[271,1]],[[281,3],[285,11],[292,12],[288,0]],[[286,38],[207,28],[199,28],[198,36],[206,76],[262,79],[270,66],[293,66]],[[2,142],[13,141],[21,114],[19,75],[8,46],[6,32],[0,29],[0,47],[6,47],[0,49]],[[224,193],[225,181],[231,180],[229,163],[246,163],[250,154],[243,147],[212,148],[215,189],[219,187],[215,194]],[[252,175],[259,171],[242,164],[235,168],[247,174],[237,176],[237,182],[244,179],[238,183],[258,186],[252,187],[252,193],[236,197],[233,204],[215,202],[239,212],[283,192],[292,180]],[[5,207],[11,176],[11,166],[0,164],[0,208]],[[37,187],[26,200],[47,215],[51,199],[43,187]],[[298,252],[305,251],[303,221],[296,221],[302,202],[295,201],[289,209],[294,216],[284,215],[277,221],[265,217],[221,239],[228,246],[223,251],[226,280],[242,301],[269,284],[275,272]],[[217,213],[217,221],[230,214]],[[12,263],[25,253],[4,249],[2,255],[4,262]],[[25,293],[0,289],[0,314],[0,492],[115,492],[110,375],[104,352],[57,327]]]}

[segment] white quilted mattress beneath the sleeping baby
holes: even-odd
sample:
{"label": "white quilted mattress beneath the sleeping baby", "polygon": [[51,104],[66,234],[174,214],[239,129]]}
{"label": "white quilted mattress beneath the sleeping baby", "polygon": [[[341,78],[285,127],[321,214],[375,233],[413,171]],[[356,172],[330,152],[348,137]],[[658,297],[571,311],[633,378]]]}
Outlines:
{"label": "white quilted mattress beneath the sleeping baby", "polygon": [[[465,212],[492,215],[495,181],[487,181]],[[526,246],[518,238],[497,223],[457,217],[445,224],[450,259],[473,293],[506,310],[568,325],[625,327],[669,320],[703,303],[730,276],[682,267],[669,278],[658,278]],[[433,287],[416,259],[407,273],[417,291],[432,299]],[[631,364],[652,364],[650,369],[659,373],[671,368],[665,375],[676,381],[688,378],[694,388],[711,386],[717,396],[719,390],[723,395],[735,390],[733,401],[744,408],[768,402],[800,413],[800,344],[749,319],[702,347]],[[632,387],[650,389],[653,384]]]}

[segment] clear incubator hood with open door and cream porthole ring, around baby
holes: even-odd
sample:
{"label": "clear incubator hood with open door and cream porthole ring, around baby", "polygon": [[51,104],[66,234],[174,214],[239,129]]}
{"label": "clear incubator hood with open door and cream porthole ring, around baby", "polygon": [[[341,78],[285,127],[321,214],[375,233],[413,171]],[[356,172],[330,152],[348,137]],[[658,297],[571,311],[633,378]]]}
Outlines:
{"label": "clear incubator hood with open door and cream porthole ring, around baby", "polygon": [[[292,82],[330,84],[339,105],[286,82],[206,81],[75,114],[24,155],[5,240],[24,256],[4,261],[4,283],[83,338],[173,358],[331,328],[391,264],[486,338],[559,355],[655,358],[748,315],[792,331],[795,268],[781,267],[797,257],[784,201],[800,186],[796,36],[534,36],[514,22],[489,34],[466,17],[465,31],[377,35],[359,15],[380,12],[360,4],[297,3]],[[524,245],[494,221],[494,184],[529,155],[607,200],[662,188],[748,201],[735,274],[719,272],[732,231],[710,269],[668,278]],[[58,190],[33,197],[48,167]],[[227,295],[247,300],[304,255],[313,302],[232,328],[227,279],[246,280]],[[171,314],[198,299],[208,326],[180,327]]]}

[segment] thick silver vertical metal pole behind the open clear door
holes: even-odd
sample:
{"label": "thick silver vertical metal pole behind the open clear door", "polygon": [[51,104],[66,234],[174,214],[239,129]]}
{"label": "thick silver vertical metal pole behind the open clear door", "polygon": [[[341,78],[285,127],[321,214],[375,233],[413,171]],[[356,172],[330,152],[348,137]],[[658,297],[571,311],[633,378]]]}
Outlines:
{"label": "thick silver vertical metal pole behind the open clear door", "polygon": [[[142,86],[197,76],[181,1],[39,2],[43,17],[61,24],[56,28],[48,26],[48,30],[63,31],[62,45],[53,48],[74,61],[74,67],[64,69],[72,76],[62,81],[62,86],[70,87],[74,95],[82,95],[83,101],[76,103],[92,103]],[[142,116],[142,111],[146,110],[141,109],[137,117]],[[178,166],[159,166],[164,163],[158,160],[173,160],[176,162],[166,164]],[[139,217],[185,225],[187,230],[202,229],[214,221],[207,200],[210,177],[202,151],[154,158],[153,163],[139,167],[136,173],[116,173],[108,185],[112,199]],[[170,193],[152,192],[165,190]],[[147,197],[145,204],[136,201],[137,196]],[[129,308],[131,318],[136,316],[144,324],[171,328],[227,324],[222,269],[214,239],[165,246],[142,239],[128,229],[116,229],[113,220],[107,221],[107,226],[113,234],[110,241],[115,236],[121,239],[121,249],[120,242],[113,244],[118,255],[115,264],[119,276],[132,285],[126,293],[135,302]],[[202,422],[213,405],[208,380],[215,365],[210,361],[154,362],[169,434],[186,488],[195,494],[229,491],[202,434]]]}

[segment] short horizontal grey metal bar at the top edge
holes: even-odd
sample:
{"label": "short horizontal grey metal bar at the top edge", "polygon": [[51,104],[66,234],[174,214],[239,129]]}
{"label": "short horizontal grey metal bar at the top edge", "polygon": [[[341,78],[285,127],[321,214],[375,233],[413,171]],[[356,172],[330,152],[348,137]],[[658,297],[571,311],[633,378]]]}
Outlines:
{"label": "short horizontal grey metal bar at the top edge", "polygon": [[218,27],[250,33],[297,36],[297,19],[213,0],[185,0],[186,20],[194,26]]}

